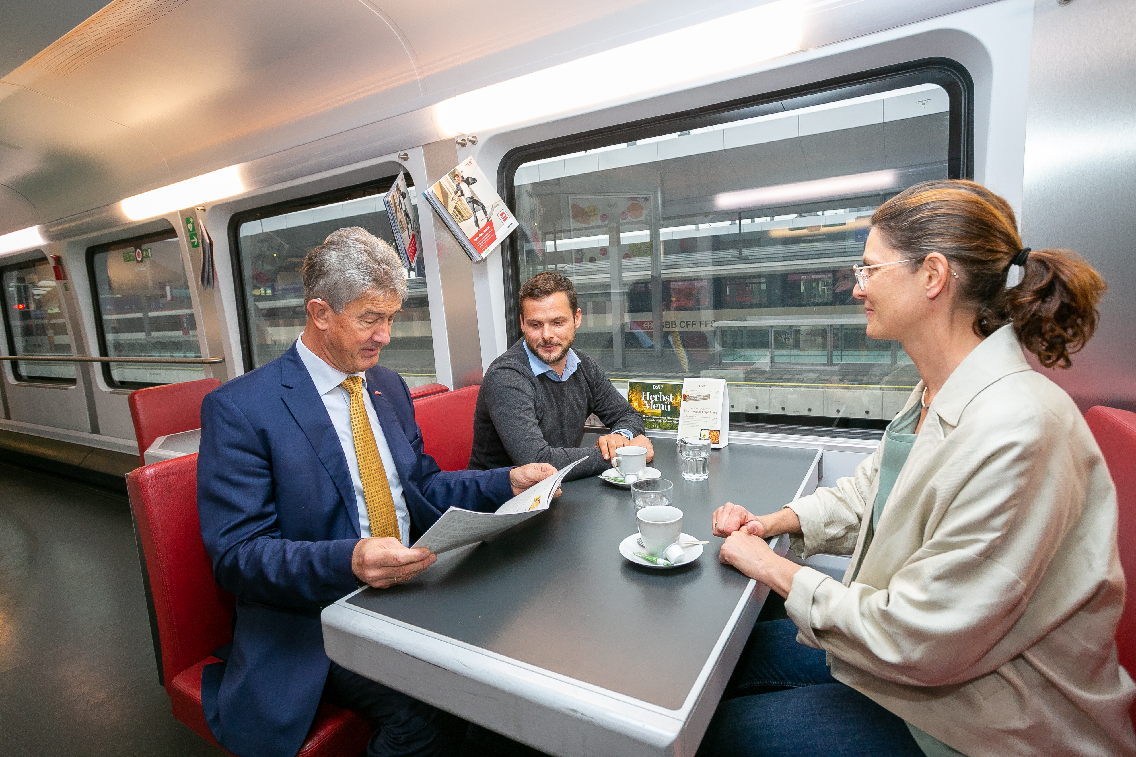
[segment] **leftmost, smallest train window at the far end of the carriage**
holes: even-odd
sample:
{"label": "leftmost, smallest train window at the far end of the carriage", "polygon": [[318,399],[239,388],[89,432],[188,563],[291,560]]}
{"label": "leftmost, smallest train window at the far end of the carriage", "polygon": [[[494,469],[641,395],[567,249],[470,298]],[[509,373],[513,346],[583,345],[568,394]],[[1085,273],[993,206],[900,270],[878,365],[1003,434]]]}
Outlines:
{"label": "leftmost, smallest train window at the far end of the carriage", "polygon": [[[73,355],[59,292],[47,259],[9,266],[3,286],[5,330],[11,355]],[[75,364],[12,362],[17,381],[75,382]]]}

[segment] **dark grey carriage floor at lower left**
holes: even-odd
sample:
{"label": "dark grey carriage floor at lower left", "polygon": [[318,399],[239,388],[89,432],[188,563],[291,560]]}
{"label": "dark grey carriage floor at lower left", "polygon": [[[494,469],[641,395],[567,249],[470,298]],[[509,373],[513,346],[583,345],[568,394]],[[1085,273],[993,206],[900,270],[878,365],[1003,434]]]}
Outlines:
{"label": "dark grey carriage floor at lower left", "polygon": [[0,755],[223,754],[157,676],[125,493],[0,464]]}

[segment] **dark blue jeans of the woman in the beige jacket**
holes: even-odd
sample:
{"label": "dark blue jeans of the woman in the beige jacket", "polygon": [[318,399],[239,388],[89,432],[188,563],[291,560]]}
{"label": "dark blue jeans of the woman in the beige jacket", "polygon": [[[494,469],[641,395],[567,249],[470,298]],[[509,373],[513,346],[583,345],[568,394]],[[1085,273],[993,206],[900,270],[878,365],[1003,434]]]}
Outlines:
{"label": "dark blue jeans of the woman in the beige jacket", "polygon": [[757,623],[699,757],[924,757],[907,724],[833,678],[791,620]]}

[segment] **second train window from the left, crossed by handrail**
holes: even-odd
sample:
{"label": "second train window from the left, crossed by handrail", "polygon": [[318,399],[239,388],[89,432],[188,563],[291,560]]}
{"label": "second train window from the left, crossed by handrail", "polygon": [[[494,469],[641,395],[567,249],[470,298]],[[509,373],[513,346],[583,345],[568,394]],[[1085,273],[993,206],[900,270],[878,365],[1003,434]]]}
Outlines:
{"label": "second train window from the left, crossed by handrail", "polygon": [[[198,325],[174,229],[87,250],[100,354],[200,358]],[[203,378],[203,365],[103,363],[112,387],[137,388]]]}

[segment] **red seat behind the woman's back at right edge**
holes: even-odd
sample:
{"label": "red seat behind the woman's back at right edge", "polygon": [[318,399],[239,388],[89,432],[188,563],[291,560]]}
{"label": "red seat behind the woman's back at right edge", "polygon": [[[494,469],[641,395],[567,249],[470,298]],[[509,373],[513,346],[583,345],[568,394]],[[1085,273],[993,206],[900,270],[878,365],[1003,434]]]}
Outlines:
{"label": "red seat behind the woman's back at right edge", "polygon": [[[1100,405],[1085,413],[1117,486],[1117,544],[1125,570],[1125,611],[1117,629],[1120,664],[1136,676],[1136,413]],[[1136,718],[1136,704],[1129,710]]]}

